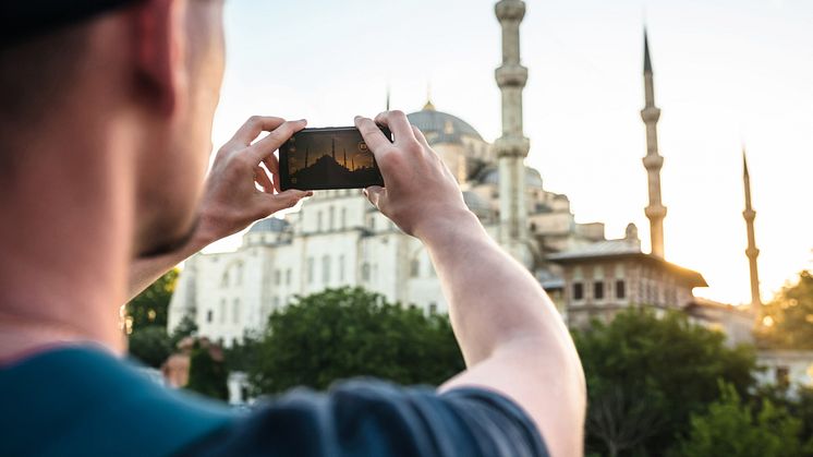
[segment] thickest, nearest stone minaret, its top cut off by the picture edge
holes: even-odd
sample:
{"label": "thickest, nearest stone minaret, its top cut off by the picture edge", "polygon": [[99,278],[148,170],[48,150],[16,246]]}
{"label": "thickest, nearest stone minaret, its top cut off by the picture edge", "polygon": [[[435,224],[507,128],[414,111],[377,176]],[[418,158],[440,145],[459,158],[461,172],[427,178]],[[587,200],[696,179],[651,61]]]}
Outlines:
{"label": "thickest, nearest stone minaret, its top cut off by the picture edge", "polygon": [[531,266],[524,165],[531,144],[522,131],[522,89],[527,69],[520,59],[520,23],[525,17],[525,2],[500,0],[495,12],[502,26],[502,65],[495,72],[502,94],[502,136],[494,143],[499,158],[499,242],[514,258]]}

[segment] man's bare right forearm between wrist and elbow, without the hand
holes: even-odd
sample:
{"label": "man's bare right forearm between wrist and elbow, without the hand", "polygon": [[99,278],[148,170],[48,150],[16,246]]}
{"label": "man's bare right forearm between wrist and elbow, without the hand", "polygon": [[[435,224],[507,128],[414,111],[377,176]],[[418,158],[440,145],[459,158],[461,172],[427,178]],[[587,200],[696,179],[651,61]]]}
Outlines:
{"label": "man's bare right forearm between wrist and elbow, without the hand", "polygon": [[557,350],[571,345],[539,284],[492,240],[472,213],[435,221],[421,239],[444,285],[469,365],[522,338],[542,338]]}

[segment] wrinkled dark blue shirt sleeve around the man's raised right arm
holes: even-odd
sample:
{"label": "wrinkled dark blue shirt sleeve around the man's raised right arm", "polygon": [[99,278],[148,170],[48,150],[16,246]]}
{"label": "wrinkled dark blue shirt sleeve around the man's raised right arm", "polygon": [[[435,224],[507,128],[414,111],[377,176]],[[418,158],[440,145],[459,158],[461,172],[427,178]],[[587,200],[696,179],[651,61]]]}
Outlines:
{"label": "wrinkled dark blue shirt sleeve around the man's raised right arm", "polygon": [[187,449],[226,456],[545,456],[535,425],[505,396],[483,388],[438,394],[377,380],[294,389]]}

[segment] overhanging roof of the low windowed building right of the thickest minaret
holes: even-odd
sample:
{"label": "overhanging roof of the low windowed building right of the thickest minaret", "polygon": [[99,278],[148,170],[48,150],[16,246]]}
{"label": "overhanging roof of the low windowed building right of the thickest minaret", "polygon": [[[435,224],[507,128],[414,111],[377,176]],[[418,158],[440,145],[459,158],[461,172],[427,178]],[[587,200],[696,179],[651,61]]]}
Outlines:
{"label": "overhanging roof of the low windowed building right of the thickest minaret", "polygon": [[692,287],[708,287],[708,282],[706,282],[705,278],[703,278],[703,275],[700,273],[666,262],[657,255],[646,254],[642,252],[636,244],[624,239],[599,241],[597,243],[587,244],[583,248],[553,254],[547,257],[550,262],[558,264],[590,263],[595,261],[626,258],[645,262],[650,265],[667,269],[668,272],[683,278]]}

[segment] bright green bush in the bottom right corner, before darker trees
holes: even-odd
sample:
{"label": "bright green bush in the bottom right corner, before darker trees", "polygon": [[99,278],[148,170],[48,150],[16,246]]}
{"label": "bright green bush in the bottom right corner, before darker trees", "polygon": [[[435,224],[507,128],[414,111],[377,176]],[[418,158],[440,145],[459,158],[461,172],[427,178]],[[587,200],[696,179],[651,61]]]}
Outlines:
{"label": "bright green bush in the bottom right corner, before darker trees", "polygon": [[720,384],[720,393],[707,412],[692,414],[690,433],[671,456],[798,457],[803,454],[799,440],[801,421],[785,408],[763,400],[755,411],[742,402],[729,384]]}

